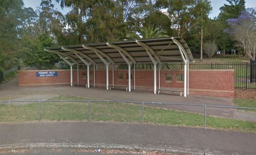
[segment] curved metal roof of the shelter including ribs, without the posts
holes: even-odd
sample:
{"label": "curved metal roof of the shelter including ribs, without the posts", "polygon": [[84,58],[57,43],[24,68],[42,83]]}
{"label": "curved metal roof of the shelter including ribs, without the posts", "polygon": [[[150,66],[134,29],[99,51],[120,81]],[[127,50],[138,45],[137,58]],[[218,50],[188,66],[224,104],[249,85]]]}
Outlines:
{"label": "curved metal roof of the shelter including ribs, without the posts", "polygon": [[194,61],[187,43],[181,37],[87,43],[45,50],[79,64],[84,63],[82,59],[93,64]]}

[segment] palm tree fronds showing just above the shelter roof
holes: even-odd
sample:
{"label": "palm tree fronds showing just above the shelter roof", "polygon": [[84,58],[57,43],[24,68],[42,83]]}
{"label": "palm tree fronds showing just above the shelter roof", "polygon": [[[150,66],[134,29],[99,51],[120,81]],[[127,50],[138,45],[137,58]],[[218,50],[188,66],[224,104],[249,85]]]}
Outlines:
{"label": "palm tree fronds showing just above the shelter roof", "polygon": [[144,26],[138,32],[128,32],[125,39],[147,39],[169,37],[165,30],[160,31],[159,28],[154,29],[152,26]]}

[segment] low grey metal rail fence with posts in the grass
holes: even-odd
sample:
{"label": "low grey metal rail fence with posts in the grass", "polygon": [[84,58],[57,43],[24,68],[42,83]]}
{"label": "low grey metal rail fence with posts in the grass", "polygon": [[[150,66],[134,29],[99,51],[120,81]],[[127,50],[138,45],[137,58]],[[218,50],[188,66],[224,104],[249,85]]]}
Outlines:
{"label": "low grey metal rail fence with posts in the grass", "polygon": [[183,103],[166,103],[166,102],[137,102],[137,101],[115,101],[115,100],[35,100],[35,101],[0,101],[0,103],[19,103],[19,102],[33,102],[38,103],[38,121],[41,122],[41,103],[42,102],[83,102],[88,104],[88,122],[91,122],[91,103],[100,103],[100,102],[109,102],[109,103],[135,103],[141,104],[141,123],[144,119],[144,106],[145,104],[154,104],[154,105],[181,105],[181,106],[199,106],[204,107],[204,128],[206,129],[206,116],[207,116],[207,107],[215,108],[233,108],[233,109],[253,109],[252,107],[237,107],[237,106],[220,106],[220,105],[207,105],[207,104],[183,104]]}

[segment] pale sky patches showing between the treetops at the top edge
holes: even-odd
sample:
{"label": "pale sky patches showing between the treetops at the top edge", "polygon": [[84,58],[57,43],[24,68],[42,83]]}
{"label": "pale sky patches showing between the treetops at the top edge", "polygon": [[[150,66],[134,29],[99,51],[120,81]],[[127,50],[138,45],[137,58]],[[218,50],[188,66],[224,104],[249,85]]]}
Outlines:
{"label": "pale sky patches showing between the treetops at the top edge", "polygon": [[[218,16],[218,14],[220,13],[220,7],[223,6],[225,3],[227,4],[227,2],[225,0],[210,0],[211,1],[211,6],[212,6],[212,11],[209,15],[210,18],[214,18],[216,16]],[[24,0],[24,4],[25,7],[31,7],[34,10],[36,9],[36,7],[39,7],[40,5],[40,0]],[[69,11],[69,8],[64,8],[63,10],[60,8],[59,4],[56,3],[55,0],[52,1],[55,6],[55,8],[57,8],[62,14],[66,14]],[[246,4],[246,8],[256,8],[256,0],[246,0],[245,1]]]}

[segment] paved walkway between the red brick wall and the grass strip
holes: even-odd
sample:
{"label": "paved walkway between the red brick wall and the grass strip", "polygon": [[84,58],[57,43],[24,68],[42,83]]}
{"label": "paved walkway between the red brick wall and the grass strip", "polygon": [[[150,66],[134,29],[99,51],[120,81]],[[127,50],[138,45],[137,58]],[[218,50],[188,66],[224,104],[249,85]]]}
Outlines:
{"label": "paved walkway between the red brick wall and the grass strip", "polygon": [[[7,83],[0,85],[1,96],[13,94],[30,94],[30,93],[47,93],[55,95],[72,95],[87,97],[90,99],[102,100],[120,100],[120,101],[145,101],[145,102],[168,102],[168,103],[187,103],[187,104],[206,104],[206,105],[224,105],[233,106],[232,99],[216,98],[205,96],[189,95],[188,97],[180,97],[175,95],[153,94],[146,91],[125,92],[121,90],[107,91],[103,87],[85,88],[82,86],[70,85],[45,85],[45,86],[17,86],[17,77]],[[180,105],[164,105],[165,108],[173,108],[178,110],[186,110],[194,113],[204,113],[203,107],[196,106],[180,106]],[[216,115],[221,117],[234,118],[233,109],[208,108],[208,115]]]}

